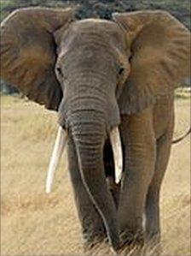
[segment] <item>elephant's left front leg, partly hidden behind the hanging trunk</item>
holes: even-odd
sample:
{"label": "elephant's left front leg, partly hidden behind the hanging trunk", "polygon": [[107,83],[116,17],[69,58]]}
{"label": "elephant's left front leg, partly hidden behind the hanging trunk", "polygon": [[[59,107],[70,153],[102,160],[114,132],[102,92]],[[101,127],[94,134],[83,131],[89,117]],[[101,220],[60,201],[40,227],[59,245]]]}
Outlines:
{"label": "elephant's left front leg, partly hidden behind the hanging trunk", "polygon": [[78,168],[76,149],[72,139],[68,141],[67,157],[78,218],[82,227],[84,248],[90,248],[98,241],[103,240],[107,236],[107,233],[100,214],[84,188]]}

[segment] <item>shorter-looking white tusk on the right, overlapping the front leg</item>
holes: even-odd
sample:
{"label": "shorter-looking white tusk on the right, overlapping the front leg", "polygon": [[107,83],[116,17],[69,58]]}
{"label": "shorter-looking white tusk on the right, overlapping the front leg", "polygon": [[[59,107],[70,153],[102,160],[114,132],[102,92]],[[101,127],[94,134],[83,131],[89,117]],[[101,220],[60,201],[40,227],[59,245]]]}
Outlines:
{"label": "shorter-looking white tusk on the right, overlapping the front leg", "polygon": [[119,134],[119,128],[113,128],[110,134],[110,141],[113,149],[113,158],[115,164],[115,182],[118,184],[121,180],[123,170],[123,153]]}

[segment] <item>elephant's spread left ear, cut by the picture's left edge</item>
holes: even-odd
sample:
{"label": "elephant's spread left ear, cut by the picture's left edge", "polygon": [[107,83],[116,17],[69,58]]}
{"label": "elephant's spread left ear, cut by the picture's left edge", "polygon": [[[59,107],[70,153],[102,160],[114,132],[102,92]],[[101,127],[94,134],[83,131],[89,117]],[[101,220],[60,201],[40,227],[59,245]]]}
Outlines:
{"label": "elephant's spread left ear, cut by the picture's left edge", "polygon": [[72,21],[72,9],[18,9],[1,23],[1,77],[47,109],[58,110],[53,33]]}

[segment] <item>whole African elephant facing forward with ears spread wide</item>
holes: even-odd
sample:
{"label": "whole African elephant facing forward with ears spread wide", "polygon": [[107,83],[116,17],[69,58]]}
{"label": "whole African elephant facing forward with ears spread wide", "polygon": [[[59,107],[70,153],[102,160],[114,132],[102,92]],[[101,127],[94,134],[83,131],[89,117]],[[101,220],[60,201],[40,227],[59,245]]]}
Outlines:
{"label": "whole African elephant facing forward with ears spread wide", "polygon": [[118,250],[135,236],[137,241],[143,234],[159,236],[173,92],[190,70],[189,34],[161,10],[75,21],[72,9],[29,8],[2,23],[1,76],[58,111],[53,165],[67,140],[89,246],[107,236]]}

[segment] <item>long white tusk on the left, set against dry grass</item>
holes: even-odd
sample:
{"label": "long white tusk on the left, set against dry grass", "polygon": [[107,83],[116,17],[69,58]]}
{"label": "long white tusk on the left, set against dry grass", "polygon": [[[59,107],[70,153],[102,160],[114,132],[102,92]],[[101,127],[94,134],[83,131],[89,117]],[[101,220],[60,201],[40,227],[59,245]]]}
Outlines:
{"label": "long white tusk on the left, set against dry grass", "polygon": [[59,164],[61,154],[67,144],[67,133],[61,126],[58,128],[57,137],[55,139],[55,146],[52,152],[52,156],[49,161],[49,169],[46,179],[46,193],[50,193],[55,170]]}

